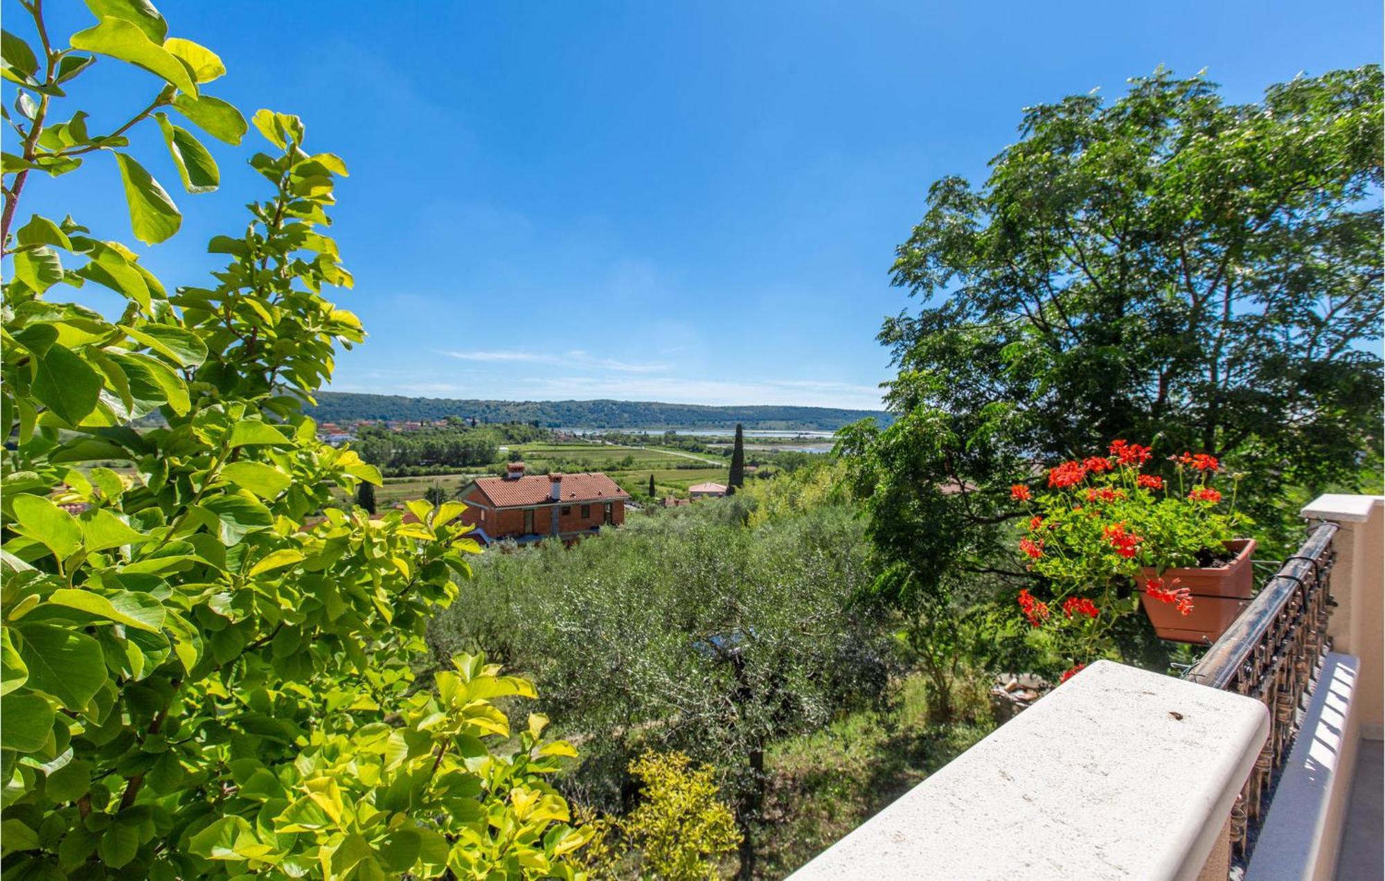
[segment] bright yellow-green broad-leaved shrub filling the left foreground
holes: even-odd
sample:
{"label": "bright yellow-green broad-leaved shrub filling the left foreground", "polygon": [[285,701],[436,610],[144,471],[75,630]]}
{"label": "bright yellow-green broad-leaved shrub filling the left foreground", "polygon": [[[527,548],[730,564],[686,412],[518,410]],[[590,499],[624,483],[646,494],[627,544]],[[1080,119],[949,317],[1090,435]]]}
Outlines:
{"label": "bright yellow-green broad-leaved shrub filling the left foreground", "polygon": [[[249,205],[211,287],[172,294],[125,245],[76,220],[11,222],[30,176],[115,154],[134,235],[159,242],[181,215],[132,155],[157,122],[184,188],[213,188],[212,157],[163,112],[238,144],[248,126],[208,94],[224,69],[166,39],[136,0],[90,3],[98,22],[37,51],[4,33],[18,84],[19,154],[4,155],[0,421],[3,644],[0,774],[6,877],[382,878],[571,875],[587,833],[544,783],[573,751],[518,752],[493,698],[524,679],[460,655],[416,688],[428,616],[478,547],[450,526],[463,506],[413,503],[371,521],[331,507],[378,471],[316,439],[299,407],[357,319],[321,294],[350,285],[323,230],[346,166],[305,150],[296,116],[259,111],[273,152],[249,163],[270,194]],[[58,103],[96,55],[157,78],[105,134]],[[109,319],[51,298],[93,283],[126,301]],[[158,413],[159,427],[132,422]],[[100,461],[129,461],[118,472]],[[324,511],[307,522],[313,511]]]}

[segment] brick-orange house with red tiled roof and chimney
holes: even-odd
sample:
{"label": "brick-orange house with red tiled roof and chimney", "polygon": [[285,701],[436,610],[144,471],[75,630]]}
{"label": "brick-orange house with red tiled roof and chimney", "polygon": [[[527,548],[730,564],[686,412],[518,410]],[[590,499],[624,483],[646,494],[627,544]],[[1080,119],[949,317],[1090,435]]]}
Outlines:
{"label": "brick-orange house with red tiled roof and chimney", "polygon": [[504,477],[476,478],[461,490],[461,521],[475,526],[482,543],[499,539],[565,542],[625,522],[630,493],[600,472],[525,474],[512,461]]}

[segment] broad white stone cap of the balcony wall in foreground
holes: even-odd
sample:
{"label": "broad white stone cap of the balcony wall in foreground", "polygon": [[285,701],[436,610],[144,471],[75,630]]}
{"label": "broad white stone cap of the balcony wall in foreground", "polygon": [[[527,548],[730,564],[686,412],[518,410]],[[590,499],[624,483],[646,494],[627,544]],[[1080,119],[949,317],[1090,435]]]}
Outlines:
{"label": "broad white stone cap of the balcony wall in foreground", "polygon": [[792,877],[1197,878],[1269,724],[1253,698],[1098,661]]}

